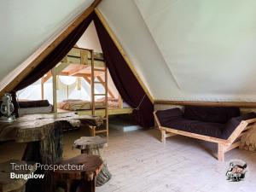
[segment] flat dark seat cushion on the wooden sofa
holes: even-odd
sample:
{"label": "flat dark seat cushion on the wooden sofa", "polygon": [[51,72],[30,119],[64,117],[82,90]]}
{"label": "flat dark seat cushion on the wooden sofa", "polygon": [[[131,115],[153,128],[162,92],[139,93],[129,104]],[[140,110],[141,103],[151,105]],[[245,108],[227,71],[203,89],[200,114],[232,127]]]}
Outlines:
{"label": "flat dark seat cushion on the wooden sofa", "polygon": [[180,118],[180,119],[172,120],[163,126],[172,128],[175,130],[196,133],[203,136],[220,138],[222,136],[222,131],[225,125],[218,124],[218,123],[211,123],[211,122],[202,122],[199,120],[190,120],[190,119]]}

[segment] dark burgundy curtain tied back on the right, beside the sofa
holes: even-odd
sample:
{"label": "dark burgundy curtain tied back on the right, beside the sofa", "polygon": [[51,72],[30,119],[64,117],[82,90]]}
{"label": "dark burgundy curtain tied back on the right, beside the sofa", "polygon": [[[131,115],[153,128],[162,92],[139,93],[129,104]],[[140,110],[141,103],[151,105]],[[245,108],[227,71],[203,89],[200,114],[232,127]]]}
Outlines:
{"label": "dark burgundy curtain tied back on the right, beside the sofa", "polygon": [[153,126],[153,103],[148,99],[142,86],[131,72],[131,68],[119,53],[119,49],[115,46],[112,38],[110,38],[107,30],[95,13],[94,22],[102,46],[104,59],[107,63],[113,83],[117,90],[119,90],[120,96],[122,96],[124,101],[127,102],[131,108],[137,108],[133,110],[133,114],[140,125],[143,127]]}

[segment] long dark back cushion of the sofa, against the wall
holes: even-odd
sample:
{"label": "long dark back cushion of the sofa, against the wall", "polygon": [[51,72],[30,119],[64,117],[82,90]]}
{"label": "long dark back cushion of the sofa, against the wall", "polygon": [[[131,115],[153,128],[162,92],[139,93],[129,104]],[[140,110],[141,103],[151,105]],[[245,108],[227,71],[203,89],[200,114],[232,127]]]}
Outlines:
{"label": "long dark back cushion of the sofa, against the wall", "polygon": [[225,124],[229,119],[240,116],[239,108],[186,106],[184,118]]}

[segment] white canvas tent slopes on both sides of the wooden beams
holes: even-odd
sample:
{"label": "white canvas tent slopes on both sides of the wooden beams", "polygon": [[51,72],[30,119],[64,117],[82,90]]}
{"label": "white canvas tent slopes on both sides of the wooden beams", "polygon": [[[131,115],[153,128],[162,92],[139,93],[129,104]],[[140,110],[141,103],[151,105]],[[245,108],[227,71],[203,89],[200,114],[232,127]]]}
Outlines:
{"label": "white canvas tent slopes on both sides of the wooden beams", "polygon": [[[16,45],[15,34],[9,34],[8,21],[3,19],[11,17],[1,17],[4,29],[1,58],[3,63],[9,63],[1,72],[1,89],[9,84],[10,79],[14,79],[15,76],[9,73],[15,68],[18,70],[20,63],[33,50],[47,42],[49,37],[56,37],[74,15],[79,15],[82,8],[86,9],[92,3],[89,0],[73,4],[60,1],[65,9],[61,10],[63,13],[56,13],[53,8],[59,6],[57,2],[51,5],[52,9],[49,9],[49,1],[41,3],[38,17],[49,9],[49,14],[57,15],[55,18],[59,20],[47,23],[49,18],[37,18],[45,21],[40,25],[47,28],[48,37],[45,35],[33,45],[28,44],[32,38],[45,34],[32,30],[37,26],[33,18],[24,15],[11,21],[16,24],[17,33],[18,26],[26,21],[26,33],[31,35],[30,39],[16,34],[20,36],[20,44]],[[23,4],[26,3],[23,1]],[[18,15],[24,8],[20,8],[20,4],[3,3],[1,13]],[[39,9],[35,4],[32,3],[32,6]],[[12,9],[10,13],[7,13],[8,7]],[[241,3],[232,0],[103,0],[97,9],[125,49],[125,55],[154,100],[255,102],[255,7],[253,1]],[[61,23],[65,15],[66,19]],[[35,25],[30,27],[29,21]],[[54,27],[49,27],[51,25]],[[38,36],[34,37],[35,34]],[[21,45],[25,44],[26,49],[21,49]],[[11,50],[20,56],[10,58],[6,53]],[[13,73],[18,73],[17,70]]]}

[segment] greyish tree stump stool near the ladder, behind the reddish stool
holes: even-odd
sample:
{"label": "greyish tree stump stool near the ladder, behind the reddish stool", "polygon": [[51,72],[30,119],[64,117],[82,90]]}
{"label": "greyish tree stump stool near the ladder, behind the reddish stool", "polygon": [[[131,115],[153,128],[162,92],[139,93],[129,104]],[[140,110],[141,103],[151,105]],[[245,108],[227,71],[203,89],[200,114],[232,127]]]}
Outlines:
{"label": "greyish tree stump stool near the ladder, behind the reddish stool", "polygon": [[[81,154],[100,154],[100,148],[104,148],[107,144],[107,139],[95,136],[95,137],[80,137],[73,143],[73,148],[81,150]],[[102,167],[102,171],[96,177],[96,187],[100,187],[107,183],[111,178],[111,173],[108,171],[107,163],[105,162]]]}

